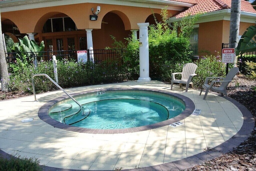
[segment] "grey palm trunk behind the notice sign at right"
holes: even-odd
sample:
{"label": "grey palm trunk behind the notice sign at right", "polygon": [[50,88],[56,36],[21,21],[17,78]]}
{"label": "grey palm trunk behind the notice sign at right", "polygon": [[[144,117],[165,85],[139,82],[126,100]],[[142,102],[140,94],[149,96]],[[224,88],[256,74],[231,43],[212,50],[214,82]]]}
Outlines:
{"label": "grey palm trunk behind the notice sign at right", "polygon": [[[241,0],[231,1],[231,16],[230,16],[230,34],[229,34],[229,47],[236,48],[238,44],[239,25],[240,25],[240,9]],[[236,66],[236,57],[234,59]]]}

